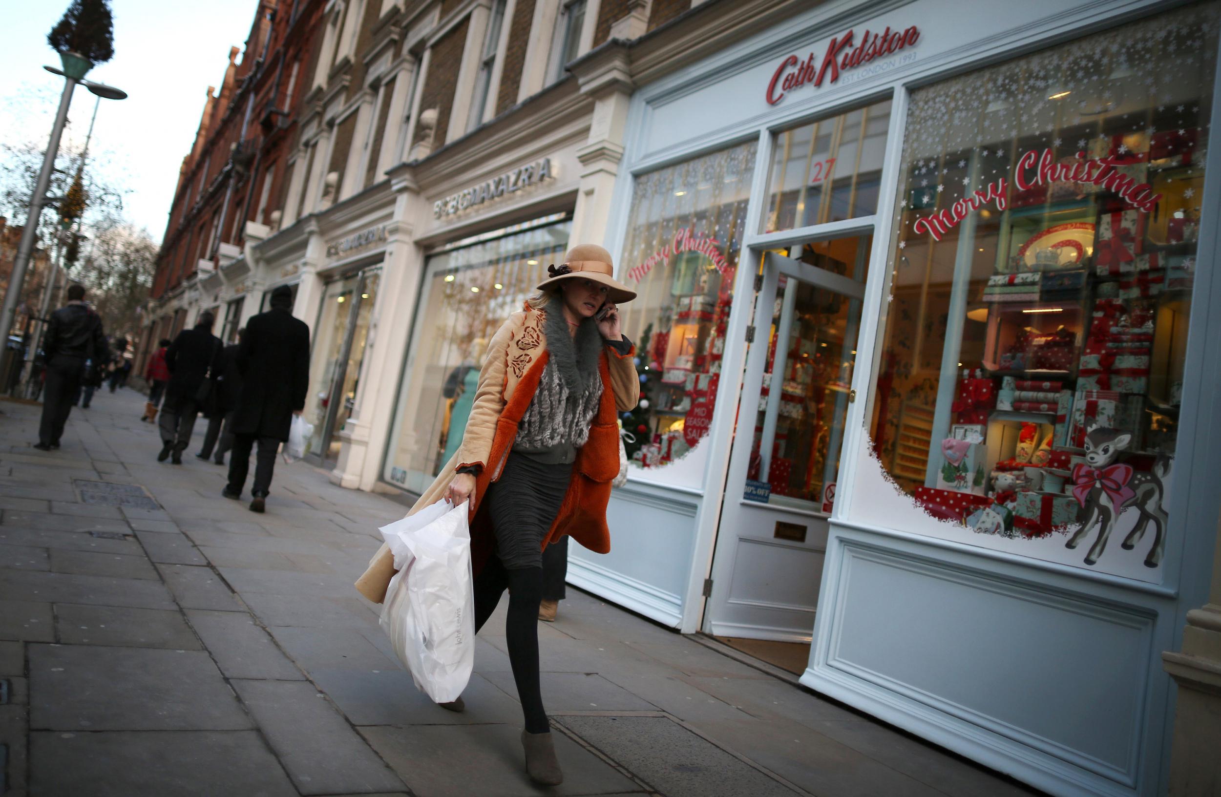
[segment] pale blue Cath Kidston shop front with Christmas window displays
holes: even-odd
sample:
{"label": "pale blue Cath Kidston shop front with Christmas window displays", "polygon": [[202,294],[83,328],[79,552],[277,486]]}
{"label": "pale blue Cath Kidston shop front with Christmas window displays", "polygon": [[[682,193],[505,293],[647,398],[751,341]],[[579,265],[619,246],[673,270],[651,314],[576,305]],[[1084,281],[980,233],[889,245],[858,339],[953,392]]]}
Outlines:
{"label": "pale blue Cath Kidston shop front with Christmas window displays", "polygon": [[642,402],[569,580],[1051,793],[1165,793],[1219,510],[1219,20],[822,7],[639,85]]}

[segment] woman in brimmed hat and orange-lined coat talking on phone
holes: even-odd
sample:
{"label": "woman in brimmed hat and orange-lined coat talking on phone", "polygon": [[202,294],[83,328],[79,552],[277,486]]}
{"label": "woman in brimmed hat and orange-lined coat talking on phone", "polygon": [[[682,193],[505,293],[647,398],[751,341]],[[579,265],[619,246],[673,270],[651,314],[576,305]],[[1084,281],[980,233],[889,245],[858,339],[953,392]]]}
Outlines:
{"label": "woman in brimmed hat and orange-lined coat talking on phone", "polygon": [[[542,552],[565,535],[596,553],[610,549],[617,419],[636,406],[640,377],[618,309],[636,294],[612,278],[610,254],[578,245],[547,271],[538,293],[488,344],[462,444],[411,513],[442,499],[470,502],[475,630],[508,588],[505,642],[525,719],[526,771],[557,785],[564,775],[538,685]],[[382,546],[357,588],[380,603],[393,574]],[[464,703],[443,708],[460,712]]]}

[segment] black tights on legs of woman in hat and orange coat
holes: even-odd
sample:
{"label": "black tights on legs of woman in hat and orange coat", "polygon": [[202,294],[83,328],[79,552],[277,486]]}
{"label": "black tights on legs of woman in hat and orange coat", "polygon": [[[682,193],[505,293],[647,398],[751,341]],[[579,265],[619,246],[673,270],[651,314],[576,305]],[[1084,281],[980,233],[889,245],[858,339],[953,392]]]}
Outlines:
{"label": "black tights on legs of woman in hat and orange coat", "polygon": [[542,707],[538,686],[538,604],[542,602],[542,568],[505,570],[501,558],[492,554],[475,579],[475,631],[477,632],[496,610],[504,588],[509,590],[509,613],[504,622],[504,638],[509,647],[509,664],[518,685],[518,699],[525,715],[526,731],[547,734],[547,712]]}

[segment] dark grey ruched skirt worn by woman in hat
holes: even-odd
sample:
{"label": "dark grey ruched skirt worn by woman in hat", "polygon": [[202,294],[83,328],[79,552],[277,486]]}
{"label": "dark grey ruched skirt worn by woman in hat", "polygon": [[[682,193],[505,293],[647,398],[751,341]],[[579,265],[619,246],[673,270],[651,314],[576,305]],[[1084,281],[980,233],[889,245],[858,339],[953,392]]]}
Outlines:
{"label": "dark grey ruched skirt worn by woman in hat", "polygon": [[486,499],[496,555],[505,570],[542,568],[542,541],[559,514],[571,476],[571,463],[547,464],[509,453]]}

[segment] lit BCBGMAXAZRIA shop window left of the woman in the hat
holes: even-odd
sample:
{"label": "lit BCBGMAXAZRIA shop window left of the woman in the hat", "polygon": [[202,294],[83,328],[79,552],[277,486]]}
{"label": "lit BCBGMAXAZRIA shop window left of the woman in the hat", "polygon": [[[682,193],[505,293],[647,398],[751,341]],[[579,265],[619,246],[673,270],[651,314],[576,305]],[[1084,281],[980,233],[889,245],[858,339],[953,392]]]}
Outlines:
{"label": "lit BCBGMAXAZRIA shop window left of the woman in the hat", "polygon": [[558,214],[455,242],[427,259],[385,478],[422,492],[462,442],[488,341],[563,259]]}

